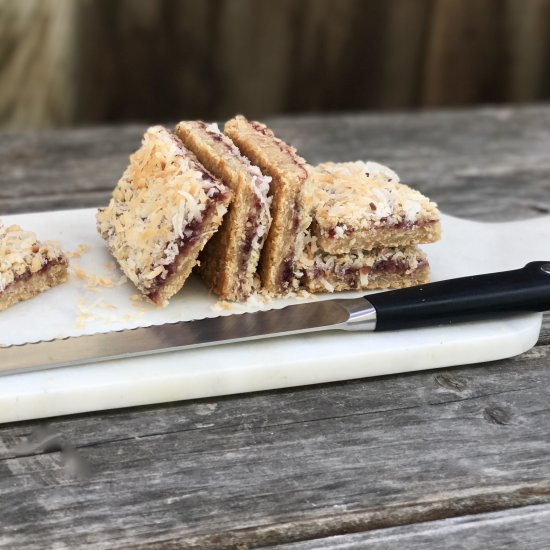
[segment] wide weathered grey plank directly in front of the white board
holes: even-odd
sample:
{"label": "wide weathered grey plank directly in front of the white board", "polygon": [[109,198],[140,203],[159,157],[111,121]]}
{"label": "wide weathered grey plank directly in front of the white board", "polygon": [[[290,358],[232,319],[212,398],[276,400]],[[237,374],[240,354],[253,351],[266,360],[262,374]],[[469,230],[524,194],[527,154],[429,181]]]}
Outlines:
{"label": "wide weathered grey plank directly in front of the white board", "polygon": [[[0,427],[0,544],[234,548],[550,502],[549,346],[519,358]],[[88,464],[17,446],[48,426]]]}

